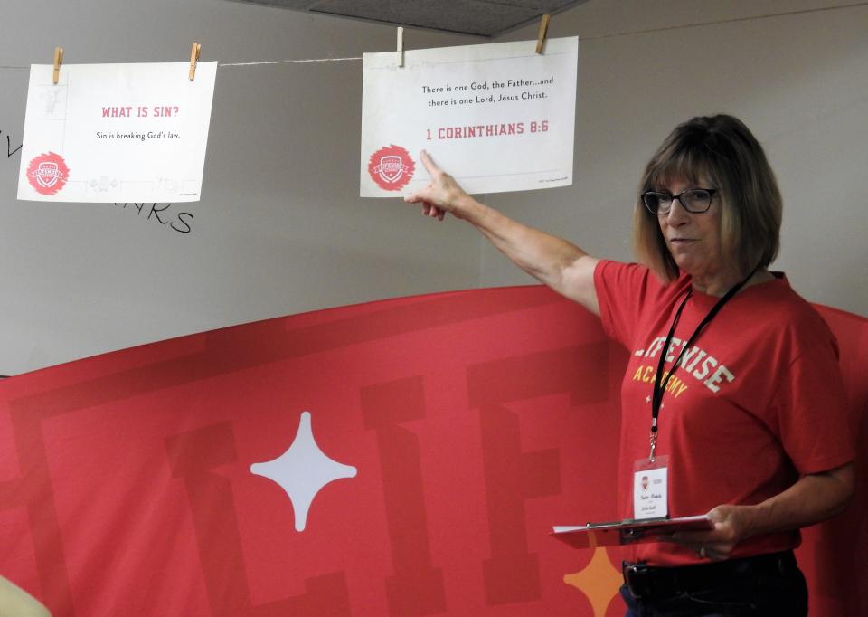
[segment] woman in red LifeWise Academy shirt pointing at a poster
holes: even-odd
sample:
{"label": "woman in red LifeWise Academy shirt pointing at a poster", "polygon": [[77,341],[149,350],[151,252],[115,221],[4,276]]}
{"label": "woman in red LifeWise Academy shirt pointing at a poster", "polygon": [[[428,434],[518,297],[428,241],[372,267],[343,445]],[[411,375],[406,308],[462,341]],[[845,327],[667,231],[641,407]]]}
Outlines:
{"label": "woman in red LifeWise Academy shirt pointing at a poster", "polygon": [[854,490],[835,339],[769,264],[781,199],[759,142],[731,116],[675,128],[646,166],[639,264],[601,261],[467,195],[426,153],[405,197],[466,220],[627,346],[624,517],[708,513],[713,527],[634,545],[627,615],[807,615],[792,549]]}

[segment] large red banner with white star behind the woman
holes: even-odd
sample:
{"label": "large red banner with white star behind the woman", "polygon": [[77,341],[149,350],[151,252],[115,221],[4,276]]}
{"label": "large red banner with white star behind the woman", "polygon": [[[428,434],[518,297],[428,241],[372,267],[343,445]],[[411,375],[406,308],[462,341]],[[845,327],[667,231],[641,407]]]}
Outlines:
{"label": "large red banner with white star behind the woman", "polygon": [[[861,428],[868,326],[824,315]],[[548,533],[617,515],[625,360],[596,318],[530,287],[271,319],[8,379],[0,574],[56,615],[623,614],[618,549]],[[812,614],[868,606],[852,567],[865,512],[860,494],[808,532],[800,559],[826,611]]]}

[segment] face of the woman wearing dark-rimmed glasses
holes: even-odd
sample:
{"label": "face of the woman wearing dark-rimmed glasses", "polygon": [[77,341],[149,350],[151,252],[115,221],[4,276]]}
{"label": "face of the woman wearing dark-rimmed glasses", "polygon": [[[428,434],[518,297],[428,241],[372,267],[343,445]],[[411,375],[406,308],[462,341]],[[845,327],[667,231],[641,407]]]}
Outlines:
{"label": "face of the woman wearing dark-rimmed glasses", "polygon": [[[660,187],[672,195],[691,188],[717,188],[700,181],[699,184],[676,180]],[[687,272],[699,283],[727,283],[731,280],[732,265],[724,258],[721,239],[721,194],[715,193],[712,204],[704,213],[684,210],[674,199],[669,214],[657,215],[666,247],[681,271]],[[738,272],[735,273],[738,278]]]}

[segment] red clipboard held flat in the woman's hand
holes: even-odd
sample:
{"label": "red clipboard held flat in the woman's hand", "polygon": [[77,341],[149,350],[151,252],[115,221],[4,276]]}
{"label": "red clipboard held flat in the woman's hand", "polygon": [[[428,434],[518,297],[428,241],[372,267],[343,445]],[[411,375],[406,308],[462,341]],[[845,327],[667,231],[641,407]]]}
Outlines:
{"label": "red clipboard held flat in the woman's hand", "polygon": [[708,515],[679,518],[627,518],[622,521],[588,523],[587,525],[558,525],[552,527],[551,536],[573,548],[618,546],[639,542],[660,542],[676,531],[708,531],[714,527]]}

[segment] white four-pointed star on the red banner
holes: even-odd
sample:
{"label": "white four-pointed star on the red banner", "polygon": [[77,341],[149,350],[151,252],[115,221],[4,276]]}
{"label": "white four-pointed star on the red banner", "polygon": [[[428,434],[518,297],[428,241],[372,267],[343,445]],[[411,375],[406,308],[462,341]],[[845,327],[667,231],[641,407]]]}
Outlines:
{"label": "white four-pointed star on the red banner", "polygon": [[356,470],[325,456],[310,429],[310,412],[302,412],[296,439],[288,450],[275,460],[253,463],[250,473],[274,480],[287,492],[296,516],[296,531],[304,531],[316,493],[335,479],[354,478]]}

